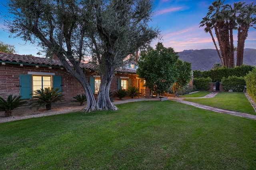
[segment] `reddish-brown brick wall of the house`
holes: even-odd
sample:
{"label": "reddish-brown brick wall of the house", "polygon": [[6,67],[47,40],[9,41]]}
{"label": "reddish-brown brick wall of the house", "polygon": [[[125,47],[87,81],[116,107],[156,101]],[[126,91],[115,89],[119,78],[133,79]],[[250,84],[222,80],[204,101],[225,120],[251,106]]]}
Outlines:
{"label": "reddish-brown brick wall of the house", "polygon": [[[41,73],[55,73],[55,75],[60,75],[62,77],[62,94],[66,101],[73,100],[73,97],[78,94],[84,94],[84,89],[82,85],[72,77],[65,69],[54,68],[49,69],[48,67],[36,68],[33,65],[24,65],[21,67],[19,64],[6,63],[6,65],[0,65],[0,97],[4,99],[8,95],[20,95],[19,87],[19,75],[28,74],[31,72],[41,72]],[[86,71],[85,76],[89,82],[89,77],[97,75],[93,71]],[[137,75],[136,74],[116,74],[112,79],[110,90],[115,91],[117,89],[117,78],[129,77],[131,79],[131,85],[137,87]]]}

